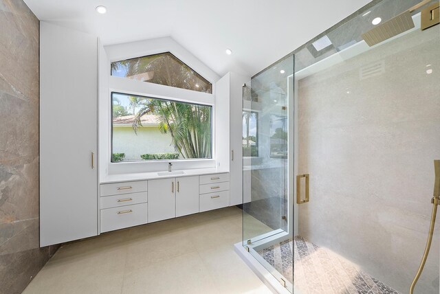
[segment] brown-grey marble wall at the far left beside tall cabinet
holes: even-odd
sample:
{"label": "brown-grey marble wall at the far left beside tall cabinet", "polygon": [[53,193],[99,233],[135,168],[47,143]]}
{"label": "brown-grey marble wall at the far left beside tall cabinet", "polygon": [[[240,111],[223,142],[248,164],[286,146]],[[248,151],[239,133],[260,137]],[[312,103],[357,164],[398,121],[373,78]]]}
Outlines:
{"label": "brown-grey marble wall at the far left beside tall cabinet", "polygon": [[39,20],[0,0],[0,293],[21,293],[58,247],[39,248]]}

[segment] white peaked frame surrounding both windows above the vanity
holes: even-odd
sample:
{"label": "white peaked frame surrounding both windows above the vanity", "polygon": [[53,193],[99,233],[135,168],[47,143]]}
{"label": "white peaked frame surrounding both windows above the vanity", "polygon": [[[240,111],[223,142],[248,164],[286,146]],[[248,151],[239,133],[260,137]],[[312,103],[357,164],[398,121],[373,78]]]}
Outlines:
{"label": "white peaked frame surrounding both windows above the vanity", "polygon": [[[100,50],[102,52],[102,49]],[[141,82],[129,78],[111,76],[111,63],[129,58],[170,52],[183,63],[195,70],[212,84],[212,94],[169,87],[162,84]],[[103,56],[106,55],[106,56]],[[147,41],[109,45],[104,47],[100,57],[106,60],[100,63],[100,176],[107,174],[126,174],[137,172],[157,172],[168,170],[168,162],[173,163],[174,170],[194,168],[215,168],[217,166],[216,115],[215,115],[215,82],[219,76],[206,67],[190,52],[171,38],[158,38]],[[126,93],[148,98],[159,98],[177,102],[195,103],[212,106],[212,159],[169,159],[163,161],[122,161],[111,162],[111,93]]]}

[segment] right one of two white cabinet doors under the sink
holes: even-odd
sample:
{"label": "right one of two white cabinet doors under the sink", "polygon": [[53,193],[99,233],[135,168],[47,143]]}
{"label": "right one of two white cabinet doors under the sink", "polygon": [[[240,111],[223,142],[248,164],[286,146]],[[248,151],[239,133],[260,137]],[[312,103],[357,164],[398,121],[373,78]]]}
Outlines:
{"label": "right one of two white cabinet doors under the sink", "polygon": [[176,216],[199,212],[199,176],[176,179]]}

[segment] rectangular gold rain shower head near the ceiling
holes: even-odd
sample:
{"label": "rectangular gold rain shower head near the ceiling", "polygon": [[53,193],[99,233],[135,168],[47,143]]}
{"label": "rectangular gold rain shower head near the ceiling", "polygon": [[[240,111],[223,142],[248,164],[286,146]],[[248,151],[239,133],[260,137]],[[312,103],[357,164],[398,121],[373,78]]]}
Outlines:
{"label": "rectangular gold rain shower head near the ceiling", "polygon": [[373,27],[373,29],[362,34],[362,38],[369,46],[373,46],[387,40],[388,38],[406,32],[414,26],[411,12],[410,10],[406,10],[406,12],[393,17],[393,19],[382,23],[382,25]]}

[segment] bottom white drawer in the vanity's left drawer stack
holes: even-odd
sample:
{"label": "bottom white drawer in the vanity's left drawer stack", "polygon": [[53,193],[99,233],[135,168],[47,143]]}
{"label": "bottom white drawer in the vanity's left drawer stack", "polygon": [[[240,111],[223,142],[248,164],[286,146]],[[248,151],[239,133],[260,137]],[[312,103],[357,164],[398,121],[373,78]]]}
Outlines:
{"label": "bottom white drawer in the vanity's left drawer stack", "polygon": [[146,223],[146,203],[101,210],[101,232]]}

